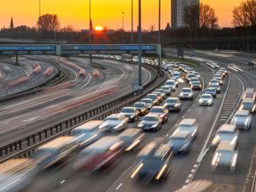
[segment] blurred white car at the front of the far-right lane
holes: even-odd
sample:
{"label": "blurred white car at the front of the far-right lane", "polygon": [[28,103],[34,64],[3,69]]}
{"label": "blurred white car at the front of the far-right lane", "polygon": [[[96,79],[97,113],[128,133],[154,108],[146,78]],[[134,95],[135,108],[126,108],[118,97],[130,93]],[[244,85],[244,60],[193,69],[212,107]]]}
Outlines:
{"label": "blurred white car at the front of the far-right lane", "polygon": [[212,156],[212,172],[236,172],[237,162],[237,142],[221,142]]}

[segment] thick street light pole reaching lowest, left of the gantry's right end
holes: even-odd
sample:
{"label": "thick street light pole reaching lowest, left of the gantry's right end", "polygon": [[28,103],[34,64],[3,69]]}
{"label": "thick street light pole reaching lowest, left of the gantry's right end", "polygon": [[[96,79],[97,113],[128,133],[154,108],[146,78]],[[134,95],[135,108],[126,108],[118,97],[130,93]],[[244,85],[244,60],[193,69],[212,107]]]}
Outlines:
{"label": "thick street light pole reaching lowest, left of the gantry's right end", "polygon": [[143,85],[142,73],[142,1],[138,0],[138,85]]}

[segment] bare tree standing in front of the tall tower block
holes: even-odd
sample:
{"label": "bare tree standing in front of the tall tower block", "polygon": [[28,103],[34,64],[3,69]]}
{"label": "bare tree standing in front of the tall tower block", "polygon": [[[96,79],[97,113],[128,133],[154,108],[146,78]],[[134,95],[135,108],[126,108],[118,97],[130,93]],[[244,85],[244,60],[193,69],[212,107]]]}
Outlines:
{"label": "bare tree standing in front of the tall tower block", "polygon": [[214,28],[218,26],[215,11],[207,4],[200,3],[187,6],[183,11],[183,22],[192,30],[198,27]]}

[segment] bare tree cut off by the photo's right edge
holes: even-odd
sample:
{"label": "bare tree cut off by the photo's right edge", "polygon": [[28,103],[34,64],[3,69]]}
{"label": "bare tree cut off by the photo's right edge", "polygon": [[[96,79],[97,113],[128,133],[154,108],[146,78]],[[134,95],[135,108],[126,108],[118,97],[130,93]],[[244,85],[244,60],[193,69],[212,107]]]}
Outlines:
{"label": "bare tree cut off by the photo's right edge", "polygon": [[232,11],[234,26],[256,26],[256,0],[247,0]]}

